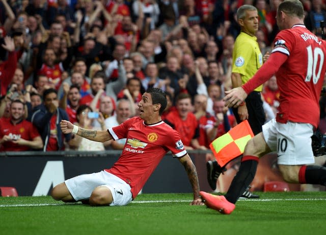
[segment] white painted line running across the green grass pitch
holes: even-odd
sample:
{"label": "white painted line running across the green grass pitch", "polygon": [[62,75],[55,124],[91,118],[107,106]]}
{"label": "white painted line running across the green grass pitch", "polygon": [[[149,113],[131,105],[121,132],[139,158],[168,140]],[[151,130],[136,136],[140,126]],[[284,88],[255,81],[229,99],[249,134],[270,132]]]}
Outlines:
{"label": "white painted line running across the green grass pitch", "polygon": [[[289,198],[289,199],[239,199],[240,201],[324,201],[326,198]],[[131,203],[165,203],[165,202],[191,202],[191,200],[155,200],[155,201],[131,201]],[[12,204],[2,207],[44,207],[47,205],[65,205],[66,203],[39,203],[39,204]],[[71,204],[71,203],[69,203]],[[77,204],[77,203],[75,203]],[[81,204],[81,203],[80,203]]]}

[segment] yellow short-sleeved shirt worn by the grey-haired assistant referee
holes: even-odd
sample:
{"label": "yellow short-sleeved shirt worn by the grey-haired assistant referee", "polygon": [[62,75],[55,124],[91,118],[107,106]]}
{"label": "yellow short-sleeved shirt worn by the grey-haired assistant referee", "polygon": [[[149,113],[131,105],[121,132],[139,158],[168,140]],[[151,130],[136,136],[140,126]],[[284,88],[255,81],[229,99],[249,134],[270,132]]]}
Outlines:
{"label": "yellow short-sleeved shirt worn by the grey-haired assistant referee", "polygon": [[[240,32],[235,40],[232,54],[232,73],[241,74],[242,84],[252,78],[263,64],[257,38]],[[255,91],[261,92],[262,85]]]}

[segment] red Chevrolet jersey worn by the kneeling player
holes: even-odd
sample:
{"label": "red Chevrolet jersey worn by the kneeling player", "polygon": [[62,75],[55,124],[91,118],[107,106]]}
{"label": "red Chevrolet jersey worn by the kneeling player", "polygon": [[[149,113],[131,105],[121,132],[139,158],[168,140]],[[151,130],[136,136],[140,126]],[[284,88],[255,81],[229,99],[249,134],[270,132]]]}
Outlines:
{"label": "red Chevrolet jersey worn by the kneeling player", "polygon": [[146,125],[140,117],[132,117],[108,132],[115,140],[127,138],[127,141],[118,161],[105,171],[129,184],[133,199],[168,151],[174,157],[187,153],[179,133],[163,121]]}

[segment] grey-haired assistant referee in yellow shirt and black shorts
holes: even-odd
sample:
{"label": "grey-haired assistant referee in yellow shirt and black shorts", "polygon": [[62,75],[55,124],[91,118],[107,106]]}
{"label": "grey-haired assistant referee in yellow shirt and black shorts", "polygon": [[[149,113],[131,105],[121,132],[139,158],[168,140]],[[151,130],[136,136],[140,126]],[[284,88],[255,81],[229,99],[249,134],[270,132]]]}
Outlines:
{"label": "grey-haired assistant referee in yellow shirt and black shorts", "polygon": [[[236,13],[241,32],[235,40],[232,54],[232,86],[238,87],[255,75],[263,64],[257,38],[258,12],[254,6],[243,5]],[[246,119],[256,135],[262,131],[265,113],[260,92],[262,85],[251,92],[245,102],[233,109],[237,123]]]}

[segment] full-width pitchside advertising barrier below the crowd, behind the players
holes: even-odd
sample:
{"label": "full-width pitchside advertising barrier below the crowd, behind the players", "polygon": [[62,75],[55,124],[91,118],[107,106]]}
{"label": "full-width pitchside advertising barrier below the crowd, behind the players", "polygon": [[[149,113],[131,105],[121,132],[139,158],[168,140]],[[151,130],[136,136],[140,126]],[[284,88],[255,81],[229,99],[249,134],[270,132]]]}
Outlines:
{"label": "full-width pitchside advertising barrier below the crowd, behind the players", "polygon": [[[19,196],[49,195],[53,186],[79,174],[93,173],[110,168],[121,151],[58,151],[58,152],[2,152],[0,153],[0,187],[15,187]],[[196,165],[202,191],[211,192],[207,182],[206,153],[210,151],[188,151]],[[318,160],[321,157],[317,157]],[[227,171],[221,174],[216,189],[226,192],[239,167],[240,158],[230,162]],[[267,182],[282,183],[277,167],[277,155],[261,158],[252,189],[263,191]],[[289,184],[290,191],[324,191],[325,187]],[[143,193],[191,193],[183,166],[172,154],[167,154],[158,164],[143,188]]]}

